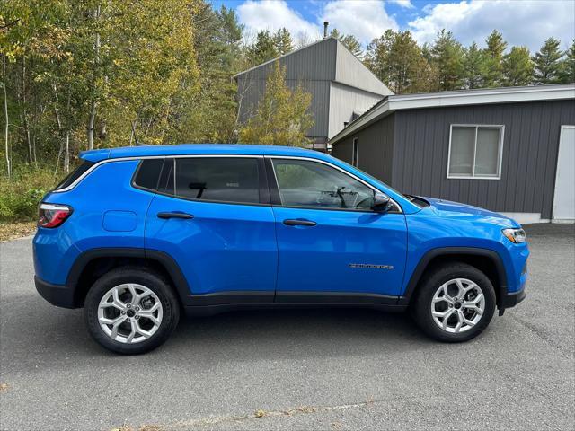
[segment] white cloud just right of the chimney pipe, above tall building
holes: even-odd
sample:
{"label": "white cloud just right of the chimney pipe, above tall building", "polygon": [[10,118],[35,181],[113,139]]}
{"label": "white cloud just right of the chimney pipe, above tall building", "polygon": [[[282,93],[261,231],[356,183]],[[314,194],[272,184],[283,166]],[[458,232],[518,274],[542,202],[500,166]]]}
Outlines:
{"label": "white cloud just right of the chimney pipe, above tall building", "polygon": [[393,17],[385,12],[383,1],[333,0],[323,7],[318,22],[329,21],[330,28],[355,35],[367,44],[385,30],[397,30]]}

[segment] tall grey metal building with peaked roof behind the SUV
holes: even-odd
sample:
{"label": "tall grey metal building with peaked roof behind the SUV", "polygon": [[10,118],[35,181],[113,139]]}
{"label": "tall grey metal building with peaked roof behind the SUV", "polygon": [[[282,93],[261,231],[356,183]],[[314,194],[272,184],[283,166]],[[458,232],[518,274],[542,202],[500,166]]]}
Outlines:
{"label": "tall grey metal building with peaked roof behind the SUV", "polygon": [[307,136],[316,149],[324,149],[344,124],[393,94],[340,40],[328,37],[235,75],[240,122],[253,115],[276,60],[286,67],[291,88],[302,84],[312,93],[314,127]]}

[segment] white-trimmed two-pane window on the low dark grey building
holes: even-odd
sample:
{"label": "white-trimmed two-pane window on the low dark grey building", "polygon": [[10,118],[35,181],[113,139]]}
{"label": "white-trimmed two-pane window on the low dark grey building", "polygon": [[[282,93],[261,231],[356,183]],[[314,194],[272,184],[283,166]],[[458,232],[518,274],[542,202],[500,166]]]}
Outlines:
{"label": "white-trimmed two-pane window on the low dark grey building", "polygon": [[499,180],[504,126],[452,124],[447,178]]}

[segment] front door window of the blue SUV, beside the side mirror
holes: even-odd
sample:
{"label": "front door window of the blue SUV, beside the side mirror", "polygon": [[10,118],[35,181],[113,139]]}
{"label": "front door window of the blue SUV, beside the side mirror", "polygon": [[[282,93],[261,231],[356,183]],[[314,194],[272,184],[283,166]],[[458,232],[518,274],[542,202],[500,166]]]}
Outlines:
{"label": "front door window of the blue SUV, beside the side mirror", "polygon": [[273,160],[281,202],[287,207],[371,209],[374,191],[323,163]]}

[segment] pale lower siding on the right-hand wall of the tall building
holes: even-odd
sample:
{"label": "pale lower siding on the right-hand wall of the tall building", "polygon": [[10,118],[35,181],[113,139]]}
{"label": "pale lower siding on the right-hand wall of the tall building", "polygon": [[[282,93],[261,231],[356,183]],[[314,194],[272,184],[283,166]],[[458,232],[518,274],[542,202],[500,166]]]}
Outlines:
{"label": "pale lower siding on the right-hand wall of the tall building", "polygon": [[343,129],[343,123],[351,121],[354,111],[363,114],[381,99],[382,96],[373,92],[365,92],[349,85],[331,83],[328,137],[331,138],[340,133]]}

